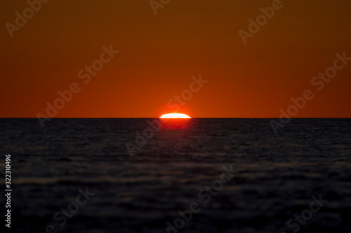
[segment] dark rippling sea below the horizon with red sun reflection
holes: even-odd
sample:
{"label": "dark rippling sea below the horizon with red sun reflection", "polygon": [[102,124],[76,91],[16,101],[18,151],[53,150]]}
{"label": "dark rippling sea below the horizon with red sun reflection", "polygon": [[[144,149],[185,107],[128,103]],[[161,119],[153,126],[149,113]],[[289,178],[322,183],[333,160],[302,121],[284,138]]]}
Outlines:
{"label": "dark rippling sea below the horizon with red sun reflection", "polygon": [[270,120],[1,118],[0,231],[351,232],[351,119]]}

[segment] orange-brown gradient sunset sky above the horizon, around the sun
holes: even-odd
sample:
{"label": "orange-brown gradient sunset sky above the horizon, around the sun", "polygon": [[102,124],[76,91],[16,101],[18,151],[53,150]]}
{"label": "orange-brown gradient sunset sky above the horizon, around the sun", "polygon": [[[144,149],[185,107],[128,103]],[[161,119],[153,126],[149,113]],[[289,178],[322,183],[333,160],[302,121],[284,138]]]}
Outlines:
{"label": "orange-brown gradient sunset sky above the horizon, around the sun", "polygon": [[[5,24],[28,5],[1,1],[0,117],[46,115],[71,83],[81,91],[55,117],[159,117],[201,73],[179,111],[193,118],[279,117],[306,89],[296,117],[350,118],[351,61],[321,91],[311,79],[336,52],[351,57],[351,1],[282,4],[244,45],[238,31],[272,1],[171,0],[155,15],[149,0],[51,0],[12,38]],[[84,84],[78,72],[110,45],[119,53]]]}

